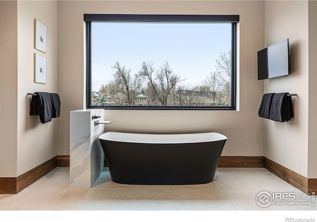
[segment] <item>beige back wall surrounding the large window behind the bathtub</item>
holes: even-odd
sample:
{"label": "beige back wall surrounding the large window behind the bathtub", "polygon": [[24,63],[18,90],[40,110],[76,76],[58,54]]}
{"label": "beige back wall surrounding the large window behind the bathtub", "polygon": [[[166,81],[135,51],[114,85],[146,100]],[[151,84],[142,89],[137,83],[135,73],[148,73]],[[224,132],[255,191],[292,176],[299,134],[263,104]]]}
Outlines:
{"label": "beige back wall surrounding the large window behind the bathtub", "polygon": [[69,154],[69,111],[85,108],[84,13],[238,14],[237,111],[105,111],[106,130],[148,133],[219,132],[222,155],[263,156],[264,84],[257,80],[257,51],[264,47],[263,1],[58,1],[57,154]]}

